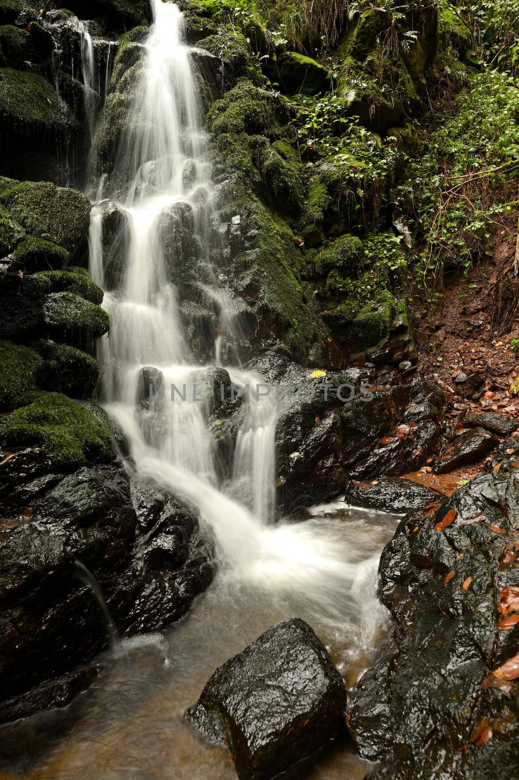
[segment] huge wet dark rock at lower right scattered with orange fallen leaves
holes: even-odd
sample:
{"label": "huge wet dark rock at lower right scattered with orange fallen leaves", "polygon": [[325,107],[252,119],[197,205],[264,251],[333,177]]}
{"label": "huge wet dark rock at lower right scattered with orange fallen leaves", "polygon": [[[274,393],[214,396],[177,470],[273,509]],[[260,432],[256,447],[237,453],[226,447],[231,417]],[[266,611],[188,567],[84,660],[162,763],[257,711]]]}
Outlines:
{"label": "huge wet dark rock at lower right scattered with orange fallen leaves", "polygon": [[380,560],[394,626],[348,694],[375,778],[514,776],[519,686],[519,470],[482,474],[402,519]]}

